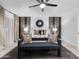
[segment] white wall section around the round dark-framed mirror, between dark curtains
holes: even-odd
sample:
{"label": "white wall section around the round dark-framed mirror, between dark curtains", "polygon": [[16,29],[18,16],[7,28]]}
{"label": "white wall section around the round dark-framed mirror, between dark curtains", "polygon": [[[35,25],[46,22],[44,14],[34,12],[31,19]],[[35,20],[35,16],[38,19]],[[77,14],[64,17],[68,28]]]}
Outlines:
{"label": "white wall section around the round dark-framed mirror, between dark curtains", "polygon": [[[36,21],[38,19],[43,20],[44,26],[39,28],[36,26]],[[47,30],[46,35],[41,35],[41,37],[48,37],[48,28],[49,28],[49,20],[48,17],[32,17],[31,18],[31,30],[32,30],[32,37],[40,37],[39,35],[34,34],[34,30]]]}

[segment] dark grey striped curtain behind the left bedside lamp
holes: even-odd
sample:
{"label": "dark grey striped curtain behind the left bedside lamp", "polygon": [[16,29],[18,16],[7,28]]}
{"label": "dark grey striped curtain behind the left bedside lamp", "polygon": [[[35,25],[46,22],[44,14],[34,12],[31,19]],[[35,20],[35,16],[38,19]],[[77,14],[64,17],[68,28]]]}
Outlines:
{"label": "dark grey striped curtain behind the left bedside lamp", "polygon": [[26,27],[28,28],[28,32],[30,33],[31,17],[19,17],[19,38],[21,38],[21,33]]}

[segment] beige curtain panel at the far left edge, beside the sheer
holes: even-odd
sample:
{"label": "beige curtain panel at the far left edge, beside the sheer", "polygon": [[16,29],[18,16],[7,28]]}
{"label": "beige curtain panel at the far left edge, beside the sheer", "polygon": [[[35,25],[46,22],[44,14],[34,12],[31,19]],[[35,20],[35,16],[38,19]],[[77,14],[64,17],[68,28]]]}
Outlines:
{"label": "beige curtain panel at the far left edge, beside the sheer", "polygon": [[4,47],[4,12],[0,9],[0,50]]}

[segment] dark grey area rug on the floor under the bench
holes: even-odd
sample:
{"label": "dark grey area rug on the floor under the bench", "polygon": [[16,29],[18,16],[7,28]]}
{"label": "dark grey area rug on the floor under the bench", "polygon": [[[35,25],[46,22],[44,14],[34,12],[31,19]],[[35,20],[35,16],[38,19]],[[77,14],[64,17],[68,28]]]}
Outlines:
{"label": "dark grey area rug on the floor under the bench", "polygon": [[[22,52],[22,58],[21,59],[79,59],[79,57],[75,56],[73,53],[71,53],[69,50],[67,50],[65,47],[62,47],[62,56],[57,57],[56,51],[31,51],[27,53],[26,51]],[[18,49],[17,47],[13,49],[11,52],[6,54],[1,59],[18,59]]]}

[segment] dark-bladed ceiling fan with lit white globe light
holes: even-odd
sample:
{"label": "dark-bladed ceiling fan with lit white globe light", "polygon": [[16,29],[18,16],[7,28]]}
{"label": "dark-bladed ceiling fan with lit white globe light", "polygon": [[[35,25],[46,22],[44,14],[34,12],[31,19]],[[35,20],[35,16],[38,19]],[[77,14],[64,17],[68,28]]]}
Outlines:
{"label": "dark-bladed ceiling fan with lit white globe light", "polygon": [[36,0],[39,4],[33,5],[33,6],[29,6],[29,8],[32,7],[40,7],[42,9],[42,12],[44,11],[44,8],[46,6],[51,6],[51,7],[57,7],[57,4],[51,4],[51,3],[47,3],[49,0]]}

